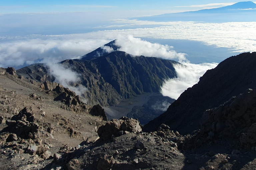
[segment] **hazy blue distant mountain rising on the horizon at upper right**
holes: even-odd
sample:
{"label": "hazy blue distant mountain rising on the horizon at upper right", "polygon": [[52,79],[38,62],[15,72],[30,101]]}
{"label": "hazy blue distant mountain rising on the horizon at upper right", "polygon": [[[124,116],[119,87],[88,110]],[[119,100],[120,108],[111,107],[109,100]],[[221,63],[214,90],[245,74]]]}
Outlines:
{"label": "hazy blue distant mountain rising on the horizon at upper right", "polygon": [[[247,10],[251,9],[251,10]],[[201,14],[201,15],[200,15]],[[135,19],[135,18],[134,18]],[[187,11],[180,13],[167,13],[149,17],[136,18],[143,21],[169,22],[169,21],[205,21],[205,22],[255,22],[256,4],[251,1],[238,2],[233,5]]]}

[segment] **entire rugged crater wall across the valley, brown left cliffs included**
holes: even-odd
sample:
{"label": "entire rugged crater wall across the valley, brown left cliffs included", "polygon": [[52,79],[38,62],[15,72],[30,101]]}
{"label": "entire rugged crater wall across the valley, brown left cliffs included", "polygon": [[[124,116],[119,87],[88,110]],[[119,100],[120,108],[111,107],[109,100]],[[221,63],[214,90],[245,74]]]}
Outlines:
{"label": "entire rugged crater wall across the valley, brown left cliffs included", "polygon": [[[60,64],[80,75],[80,81],[70,84],[88,88],[85,96],[89,104],[109,106],[144,92],[159,92],[164,80],[177,76],[173,65],[180,63],[114,51],[91,60],[65,60]],[[55,80],[45,64],[21,68],[17,74],[41,82]]]}

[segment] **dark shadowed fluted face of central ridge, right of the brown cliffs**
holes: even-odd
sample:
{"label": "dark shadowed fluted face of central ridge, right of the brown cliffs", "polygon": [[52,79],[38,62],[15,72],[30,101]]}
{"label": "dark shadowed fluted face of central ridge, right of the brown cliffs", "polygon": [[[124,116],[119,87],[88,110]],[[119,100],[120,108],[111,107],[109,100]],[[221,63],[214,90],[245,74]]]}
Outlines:
{"label": "dark shadowed fluted face of central ridge, right of the brown cliffs", "polygon": [[164,80],[176,77],[173,64],[178,63],[124,51],[114,51],[92,61],[98,63],[101,76],[124,98],[159,92]]}

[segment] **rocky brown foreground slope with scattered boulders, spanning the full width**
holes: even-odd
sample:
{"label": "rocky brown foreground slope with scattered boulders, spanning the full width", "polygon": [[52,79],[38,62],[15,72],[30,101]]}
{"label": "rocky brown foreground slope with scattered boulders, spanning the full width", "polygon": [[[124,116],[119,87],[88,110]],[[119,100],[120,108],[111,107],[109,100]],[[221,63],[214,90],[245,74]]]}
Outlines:
{"label": "rocky brown foreground slope with scattered boulders, spanning the full width", "polygon": [[202,113],[181,135],[167,125],[143,132],[136,119],[107,121],[55,83],[0,70],[0,168],[51,170],[255,169],[256,89]]}

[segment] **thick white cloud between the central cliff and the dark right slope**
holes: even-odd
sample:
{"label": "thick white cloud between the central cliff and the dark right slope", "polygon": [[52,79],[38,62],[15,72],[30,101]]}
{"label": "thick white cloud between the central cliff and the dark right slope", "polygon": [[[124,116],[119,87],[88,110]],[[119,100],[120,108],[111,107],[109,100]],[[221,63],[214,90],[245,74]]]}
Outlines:
{"label": "thick white cloud between the central cliff and the dark right slope", "polygon": [[169,79],[164,82],[161,87],[163,96],[178,99],[181,93],[187,90],[187,88],[198,83],[199,78],[203,76],[207,70],[215,68],[218,65],[217,63],[192,64],[185,62],[182,64],[184,65],[174,65],[177,78]]}

